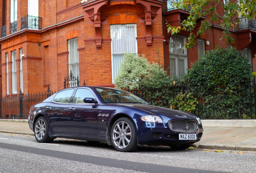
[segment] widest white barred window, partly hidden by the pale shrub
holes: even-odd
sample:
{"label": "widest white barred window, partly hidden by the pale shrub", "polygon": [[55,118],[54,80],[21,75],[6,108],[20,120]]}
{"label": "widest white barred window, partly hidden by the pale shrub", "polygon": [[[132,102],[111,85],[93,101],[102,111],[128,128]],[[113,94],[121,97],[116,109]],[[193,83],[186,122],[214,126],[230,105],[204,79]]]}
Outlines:
{"label": "widest white barred window, partly hidden by the pale shrub", "polygon": [[118,75],[124,53],[138,53],[136,24],[110,25],[112,83]]}

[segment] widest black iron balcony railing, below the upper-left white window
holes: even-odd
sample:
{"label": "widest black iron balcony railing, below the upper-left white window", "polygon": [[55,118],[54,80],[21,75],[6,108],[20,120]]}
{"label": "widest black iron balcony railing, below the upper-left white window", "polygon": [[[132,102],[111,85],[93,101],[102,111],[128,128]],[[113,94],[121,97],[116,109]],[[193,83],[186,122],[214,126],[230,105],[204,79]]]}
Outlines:
{"label": "widest black iron balcony railing, below the upper-left white window", "polygon": [[21,30],[25,28],[42,29],[42,18],[35,16],[24,16],[21,18]]}

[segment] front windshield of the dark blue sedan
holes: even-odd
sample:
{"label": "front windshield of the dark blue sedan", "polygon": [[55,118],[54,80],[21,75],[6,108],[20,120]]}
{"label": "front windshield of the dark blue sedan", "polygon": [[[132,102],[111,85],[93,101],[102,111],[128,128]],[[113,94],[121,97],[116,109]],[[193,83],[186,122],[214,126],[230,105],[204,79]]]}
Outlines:
{"label": "front windshield of the dark blue sedan", "polygon": [[95,87],[94,89],[101,97],[103,103],[135,103],[148,105],[147,102],[127,91],[100,87]]}

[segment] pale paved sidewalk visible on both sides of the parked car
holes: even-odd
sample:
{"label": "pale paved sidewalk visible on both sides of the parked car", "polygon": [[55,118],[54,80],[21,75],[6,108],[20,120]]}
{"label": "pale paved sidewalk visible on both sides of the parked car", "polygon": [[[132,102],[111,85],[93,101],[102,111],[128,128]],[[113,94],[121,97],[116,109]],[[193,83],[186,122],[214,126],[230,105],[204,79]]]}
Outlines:
{"label": "pale paved sidewalk visible on both sides of the parked car", "polygon": [[[255,127],[203,127],[201,141],[194,144],[200,149],[256,151]],[[0,120],[0,132],[34,135],[27,120]]]}

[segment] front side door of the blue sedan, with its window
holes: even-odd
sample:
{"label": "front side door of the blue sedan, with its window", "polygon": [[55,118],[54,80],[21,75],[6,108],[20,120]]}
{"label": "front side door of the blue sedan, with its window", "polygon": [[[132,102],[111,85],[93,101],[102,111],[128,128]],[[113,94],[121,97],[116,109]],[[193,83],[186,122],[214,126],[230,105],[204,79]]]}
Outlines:
{"label": "front side door of the blue sedan, with its window", "polygon": [[84,103],[84,98],[95,99],[95,96],[89,89],[78,88],[72,103],[68,107],[68,131],[69,133],[97,135],[99,104]]}

